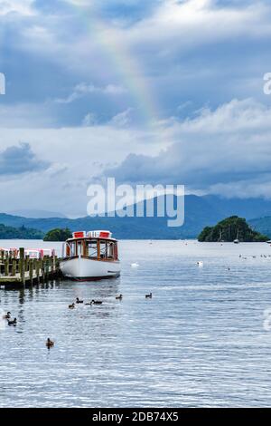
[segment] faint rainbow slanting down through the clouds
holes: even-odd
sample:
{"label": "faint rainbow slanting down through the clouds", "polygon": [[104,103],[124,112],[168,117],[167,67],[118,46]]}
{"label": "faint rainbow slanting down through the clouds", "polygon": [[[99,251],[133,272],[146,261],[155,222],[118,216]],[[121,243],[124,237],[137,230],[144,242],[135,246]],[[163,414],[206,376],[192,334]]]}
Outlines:
{"label": "faint rainbow slanting down through the clouds", "polygon": [[140,63],[127,51],[126,45],[118,36],[117,31],[107,26],[91,5],[88,4],[86,7],[85,2],[72,0],[71,6],[84,22],[92,40],[98,44],[108,67],[112,67],[124,83],[125,89],[134,99],[144,122],[151,125],[160,115],[157,109],[158,102],[155,102],[154,93],[146,82]]}

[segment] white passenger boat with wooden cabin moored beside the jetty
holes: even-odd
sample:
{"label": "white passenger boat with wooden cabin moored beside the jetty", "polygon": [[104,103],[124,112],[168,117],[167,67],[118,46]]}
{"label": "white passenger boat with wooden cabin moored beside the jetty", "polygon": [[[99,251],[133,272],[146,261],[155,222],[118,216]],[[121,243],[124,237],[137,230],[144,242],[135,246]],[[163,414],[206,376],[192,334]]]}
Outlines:
{"label": "white passenger boat with wooden cabin moored beside the jetty", "polygon": [[109,231],[74,232],[63,245],[61,272],[77,281],[119,276],[117,239]]}

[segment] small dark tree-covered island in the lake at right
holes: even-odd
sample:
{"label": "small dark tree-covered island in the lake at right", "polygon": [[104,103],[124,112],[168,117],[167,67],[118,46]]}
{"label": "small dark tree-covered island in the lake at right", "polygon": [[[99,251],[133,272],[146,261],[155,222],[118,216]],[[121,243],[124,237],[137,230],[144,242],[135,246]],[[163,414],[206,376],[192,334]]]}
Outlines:
{"label": "small dark tree-covered island in the lake at right", "polygon": [[198,240],[201,242],[266,242],[269,238],[249,227],[245,218],[231,216],[221,220],[214,227],[206,227],[201,231]]}

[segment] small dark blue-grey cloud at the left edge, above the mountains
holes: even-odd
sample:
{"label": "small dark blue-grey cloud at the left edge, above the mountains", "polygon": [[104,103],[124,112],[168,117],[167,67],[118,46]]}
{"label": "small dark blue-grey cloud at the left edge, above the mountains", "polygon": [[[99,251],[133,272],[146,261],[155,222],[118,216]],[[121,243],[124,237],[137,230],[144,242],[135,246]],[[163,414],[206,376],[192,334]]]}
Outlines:
{"label": "small dark blue-grey cloud at the left edge, above the mountains", "polygon": [[50,163],[36,157],[29,143],[20,143],[0,152],[0,175],[19,175],[48,169]]}

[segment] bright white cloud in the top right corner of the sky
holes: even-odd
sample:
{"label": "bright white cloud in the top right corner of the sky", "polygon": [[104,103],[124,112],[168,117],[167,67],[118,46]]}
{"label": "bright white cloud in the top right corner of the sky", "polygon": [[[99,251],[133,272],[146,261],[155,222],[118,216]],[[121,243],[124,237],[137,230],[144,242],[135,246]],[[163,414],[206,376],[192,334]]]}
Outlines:
{"label": "bright white cloud in the top right corner of the sky", "polygon": [[[176,45],[185,48],[237,35],[271,34],[269,18],[270,5],[261,1],[225,7],[215,0],[169,0],[160,4],[154,15],[121,32],[127,43],[158,44],[160,50],[170,51]],[[168,44],[170,40],[173,46]]]}

